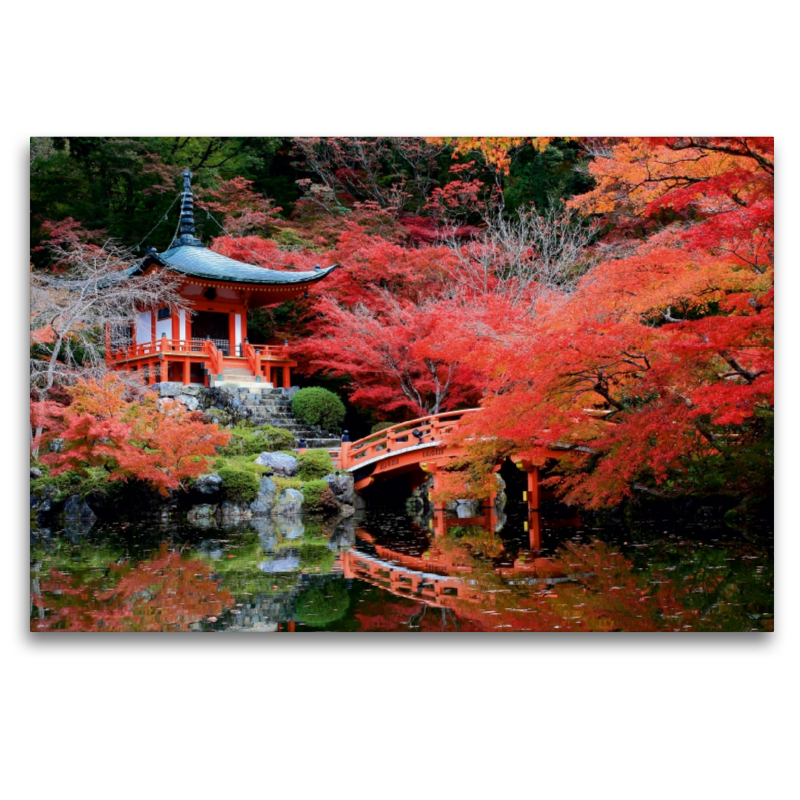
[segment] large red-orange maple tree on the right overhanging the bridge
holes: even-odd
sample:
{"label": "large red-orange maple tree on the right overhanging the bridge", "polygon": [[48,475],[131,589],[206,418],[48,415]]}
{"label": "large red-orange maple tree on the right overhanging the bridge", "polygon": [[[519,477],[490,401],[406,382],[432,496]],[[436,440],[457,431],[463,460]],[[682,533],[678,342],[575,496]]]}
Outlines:
{"label": "large red-orange maple tree on the right overhanging the bridge", "polygon": [[505,343],[472,347],[489,413],[464,437],[484,437],[486,463],[560,450],[554,483],[590,507],[685,491],[704,469],[706,486],[757,491],[774,403],[772,140],[616,140],[591,171],[597,188],[572,205],[610,227],[601,263],[571,294],[542,294]]}

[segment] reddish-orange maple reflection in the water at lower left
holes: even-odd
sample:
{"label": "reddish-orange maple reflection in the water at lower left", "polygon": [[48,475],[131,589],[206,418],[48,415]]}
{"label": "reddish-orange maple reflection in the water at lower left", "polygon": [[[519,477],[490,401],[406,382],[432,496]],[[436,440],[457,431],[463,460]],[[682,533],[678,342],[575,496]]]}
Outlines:
{"label": "reddish-orange maple reflection in the water at lower left", "polygon": [[121,575],[113,588],[105,577],[83,583],[53,570],[41,594],[32,595],[46,614],[31,620],[31,630],[185,631],[234,602],[210,573],[204,562],[182,559],[166,544],[136,567],[112,564],[111,574]]}

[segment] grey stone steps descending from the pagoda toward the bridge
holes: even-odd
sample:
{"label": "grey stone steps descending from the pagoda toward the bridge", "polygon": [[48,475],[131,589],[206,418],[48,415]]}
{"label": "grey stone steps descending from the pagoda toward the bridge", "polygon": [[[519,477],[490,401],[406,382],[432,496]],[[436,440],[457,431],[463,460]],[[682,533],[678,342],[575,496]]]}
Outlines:
{"label": "grey stone steps descending from the pagoda toward the bridge", "polygon": [[240,417],[249,419],[254,425],[274,425],[291,431],[298,443],[305,439],[309,448],[333,450],[341,447],[341,438],[329,431],[306,425],[292,416],[291,389],[271,389],[255,380],[239,383],[217,384],[216,389],[228,396],[226,405]]}

